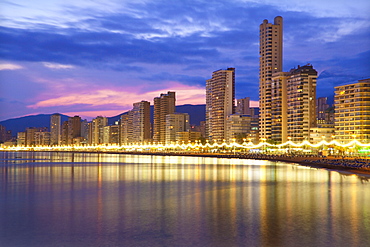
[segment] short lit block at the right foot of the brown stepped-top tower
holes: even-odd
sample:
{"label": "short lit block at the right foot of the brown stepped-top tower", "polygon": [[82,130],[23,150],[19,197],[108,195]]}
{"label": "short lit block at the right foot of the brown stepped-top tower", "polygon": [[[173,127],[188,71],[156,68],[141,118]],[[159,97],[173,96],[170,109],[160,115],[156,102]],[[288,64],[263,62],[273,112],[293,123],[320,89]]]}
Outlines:
{"label": "short lit block at the right foot of the brown stepped-top tower", "polygon": [[177,141],[177,132],[187,132],[190,129],[189,114],[172,113],[166,115],[166,144]]}

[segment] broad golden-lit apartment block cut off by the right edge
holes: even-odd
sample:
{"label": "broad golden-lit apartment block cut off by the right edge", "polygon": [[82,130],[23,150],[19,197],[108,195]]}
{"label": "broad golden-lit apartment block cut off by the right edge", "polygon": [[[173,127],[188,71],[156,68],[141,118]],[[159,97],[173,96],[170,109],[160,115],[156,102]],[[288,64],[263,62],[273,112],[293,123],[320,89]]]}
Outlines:
{"label": "broad golden-lit apartment block cut off by the right edge", "polygon": [[348,143],[370,140],[370,79],[335,87],[335,139]]}

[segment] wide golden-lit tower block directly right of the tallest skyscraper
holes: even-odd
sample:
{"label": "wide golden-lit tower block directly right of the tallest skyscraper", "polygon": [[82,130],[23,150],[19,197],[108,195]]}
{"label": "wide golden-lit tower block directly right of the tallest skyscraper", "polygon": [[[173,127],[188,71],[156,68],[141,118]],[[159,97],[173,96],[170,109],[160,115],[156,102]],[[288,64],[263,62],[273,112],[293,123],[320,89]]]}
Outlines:
{"label": "wide golden-lit tower block directly right of the tallest skyscraper", "polygon": [[309,140],[310,129],[316,127],[316,78],[317,71],[310,64],[273,74],[271,140]]}

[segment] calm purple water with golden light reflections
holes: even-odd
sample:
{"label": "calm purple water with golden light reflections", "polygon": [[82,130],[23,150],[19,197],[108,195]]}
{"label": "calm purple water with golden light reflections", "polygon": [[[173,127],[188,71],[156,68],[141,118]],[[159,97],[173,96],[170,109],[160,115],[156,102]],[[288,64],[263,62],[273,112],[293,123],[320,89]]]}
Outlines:
{"label": "calm purple water with golden light reflections", "polygon": [[0,152],[0,246],[370,246],[370,178],[280,162]]}

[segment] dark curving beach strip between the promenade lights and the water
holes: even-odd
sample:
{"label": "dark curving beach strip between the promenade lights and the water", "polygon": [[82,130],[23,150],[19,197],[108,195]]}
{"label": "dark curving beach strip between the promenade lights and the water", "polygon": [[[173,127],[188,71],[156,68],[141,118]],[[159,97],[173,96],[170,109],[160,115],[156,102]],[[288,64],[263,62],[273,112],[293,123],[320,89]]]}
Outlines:
{"label": "dark curving beach strip between the promenade lights and the water", "polygon": [[[358,175],[370,176],[370,159],[350,158],[350,157],[321,157],[321,156],[287,156],[269,154],[221,154],[221,153],[188,153],[188,152],[130,152],[130,151],[58,151],[58,150],[29,150],[29,151],[8,151],[4,152],[61,152],[61,153],[104,153],[104,154],[132,154],[132,155],[156,155],[156,156],[189,156],[189,157],[209,157],[209,158],[229,158],[229,159],[254,159],[269,160],[287,163],[297,163],[302,166],[317,169],[329,169],[338,172],[348,172]],[[365,163],[364,163],[365,162]]]}

